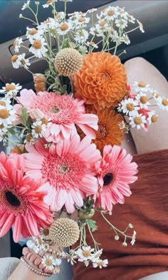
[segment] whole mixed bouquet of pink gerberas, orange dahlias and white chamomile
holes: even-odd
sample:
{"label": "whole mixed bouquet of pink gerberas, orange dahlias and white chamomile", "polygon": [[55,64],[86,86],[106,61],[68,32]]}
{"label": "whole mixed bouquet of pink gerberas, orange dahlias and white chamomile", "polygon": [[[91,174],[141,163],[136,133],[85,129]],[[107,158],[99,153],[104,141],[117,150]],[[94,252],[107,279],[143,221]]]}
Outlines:
{"label": "whole mixed bouquet of pink gerberas, orange dahlias and white chamomile", "polygon": [[[51,9],[51,17],[42,23],[38,1],[36,11],[29,0],[23,5],[33,18],[20,18],[33,26],[14,41],[11,63],[32,73],[36,92],[15,83],[0,90],[0,140],[11,148],[0,154],[0,237],[11,227],[15,242],[31,237],[23,261],[39,254],[39,269],[48,275],[60,271],[61,259],[107,266],[94,238],[101,230],[95,212],[115,240],[135,244],[135,230],[127,234],[132,224],[121,231],[110,221],[113,205],[125,202],[137,180],[137,164],[120,144],[129,128],[147,130],[157,121],[150,105],[168,110],[168,100],[145,82],[135,81],[130,93],[123,52],[116,55],[130,44],[130,32],[144,32],[140,21],[118,6],[67,15],[68,1],[58,12],[57,0],[48,0],[43,9]],[[46,61],[45,73],[32,72],[35,59]]]}

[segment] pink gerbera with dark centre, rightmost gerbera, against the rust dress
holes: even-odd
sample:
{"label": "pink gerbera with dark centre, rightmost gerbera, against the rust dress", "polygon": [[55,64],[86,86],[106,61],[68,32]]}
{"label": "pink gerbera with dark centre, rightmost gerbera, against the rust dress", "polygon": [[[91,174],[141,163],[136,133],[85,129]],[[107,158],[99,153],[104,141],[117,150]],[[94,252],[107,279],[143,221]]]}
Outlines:
{"label": "pink gerbera with dark centre, rightmost gerbera, against the rust dress", "polygon": [[131,195],[128,184],[137,180],[137,164],[131,160],[132,156],[126,155],[126,151],[119,146],[104,147],[103,159],[95,163],[99,181],[98,193],[95,195],[97,206],[112,211],[112,204],[123,204],[124,195]]}

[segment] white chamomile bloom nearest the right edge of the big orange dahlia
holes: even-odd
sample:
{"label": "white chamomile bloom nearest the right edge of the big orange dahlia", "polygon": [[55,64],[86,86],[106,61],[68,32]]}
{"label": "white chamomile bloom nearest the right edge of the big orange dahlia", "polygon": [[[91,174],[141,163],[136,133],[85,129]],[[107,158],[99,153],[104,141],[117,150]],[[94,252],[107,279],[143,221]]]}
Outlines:
{"label": "white chamomile bloom nearest the right edge of the big orange dahlia", "polygon": [[125,100],[122,100],[119,107],[118,111],[123,112],[126,115],[136,115],[137,110],[139,110],[140,107],[138,106],[138,101],[134,100],[133,98],[127,98]]}

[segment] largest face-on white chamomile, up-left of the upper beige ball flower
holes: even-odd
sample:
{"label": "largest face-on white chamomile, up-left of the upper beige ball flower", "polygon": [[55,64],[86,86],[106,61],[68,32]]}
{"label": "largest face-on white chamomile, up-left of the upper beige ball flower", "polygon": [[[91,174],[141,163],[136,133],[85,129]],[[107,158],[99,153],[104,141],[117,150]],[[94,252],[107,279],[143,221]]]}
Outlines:
{"label": "largest face-on white chamomile, up-left of the upper beige ball flower", "polygon": [[29,51],[33,53],[36,57],[42,58],[45,56],[48,49],[45,47],[47,45],[44,38],[38,40],[30,40],[32,46],[29,48]]}

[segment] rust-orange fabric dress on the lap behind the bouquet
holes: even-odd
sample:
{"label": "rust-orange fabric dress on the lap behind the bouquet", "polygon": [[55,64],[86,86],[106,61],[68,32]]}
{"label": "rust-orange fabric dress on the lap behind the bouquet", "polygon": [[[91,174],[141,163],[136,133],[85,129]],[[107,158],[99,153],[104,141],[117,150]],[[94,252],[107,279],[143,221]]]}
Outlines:
{"label": "rust-orange fabric dress on the lap behind the bouquet", "polygon": [[[168,270],[168,150],[135,155],[134,160],[139,173],[131,185],[132,196],[126,197],[124,205],[115,205],[108,218],[122,230],[132,223],[137,232],[135,245],[128,239],[123,247],[122,237],[115,241],[115,233],[96,214],[100,230],[94,237],[102,244],[102,259],[109,264],[103,269],[75,264],[73,280],[137,280]],[[89,234],[88,244],[92,244]]]}

